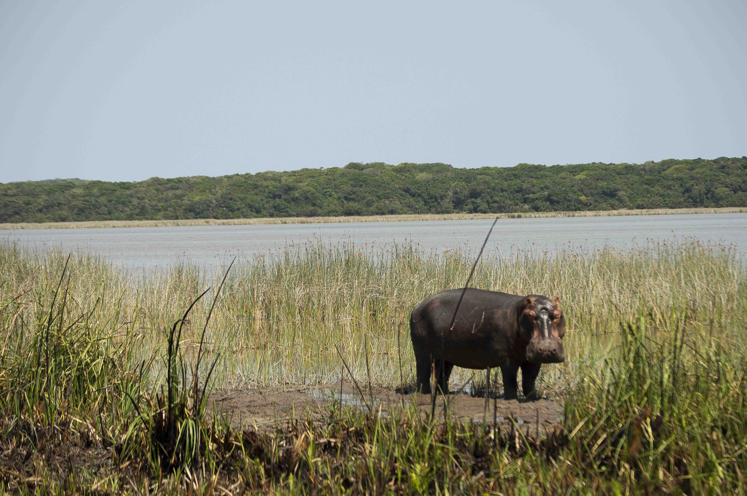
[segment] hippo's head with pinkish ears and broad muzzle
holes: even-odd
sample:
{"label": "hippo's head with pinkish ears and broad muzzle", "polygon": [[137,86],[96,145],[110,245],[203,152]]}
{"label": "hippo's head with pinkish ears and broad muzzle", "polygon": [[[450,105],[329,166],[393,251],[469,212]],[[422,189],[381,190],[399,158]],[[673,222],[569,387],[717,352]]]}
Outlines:
{"label": "hippo's head with pinkish ears and broad muzzle", "polygon": [[519,307],[519,328],[527,345],[527,360],[532,363],[559,363],[565,360],[562,337],[565,318],[558,306],[560,298],[552,301],[539,295],[529,295]]}

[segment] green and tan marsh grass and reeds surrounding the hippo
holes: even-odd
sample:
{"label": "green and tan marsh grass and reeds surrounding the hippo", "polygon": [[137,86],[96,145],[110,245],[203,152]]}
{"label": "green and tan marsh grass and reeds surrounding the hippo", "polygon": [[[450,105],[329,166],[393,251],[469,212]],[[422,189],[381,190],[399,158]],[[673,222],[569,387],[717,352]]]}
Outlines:
{"label": "green and tan marsh grass and reeds surrounding the hippo", "polygon": [[409,409],[332,410],[316,424],[299,412],[275,433],[240,432],[195,401],[213,363],[210,387],[335,382],[335,345],[366,380],[365,341],[375,385],[398,386],[398,331],[412,381],[409,311],[461,286],[473,255],[288,245],[238,261],[207,325],[214,291],[173,334],[222,272],[142,278],[85,254],[0,247],[0,492],[742,494],[745,267],[692,239],[477,267],[472,286],[561,298],[568,359],[539,387],[564,398],[564,421],[545,439]]}

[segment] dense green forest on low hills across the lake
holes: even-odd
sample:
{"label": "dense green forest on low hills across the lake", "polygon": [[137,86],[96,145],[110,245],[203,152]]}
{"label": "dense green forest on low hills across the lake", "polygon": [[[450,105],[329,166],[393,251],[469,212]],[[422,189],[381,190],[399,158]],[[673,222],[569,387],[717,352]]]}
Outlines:
{"label": "dense green forest on low hills across the lake", "polygon": [[131,183],[0,183],[0,222],[746,206],[747,157],[480,169],[349,163]]}

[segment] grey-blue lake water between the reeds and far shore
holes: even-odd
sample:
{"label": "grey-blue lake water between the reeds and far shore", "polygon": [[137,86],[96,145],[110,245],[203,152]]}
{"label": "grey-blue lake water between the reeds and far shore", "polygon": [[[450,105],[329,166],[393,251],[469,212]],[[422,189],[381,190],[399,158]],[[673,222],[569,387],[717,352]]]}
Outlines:
{"label": "grey-blue lake water between the reeds and far shore", "polygon": [[[291,242],[348,239],[356,245],[416,242],[425,251],[477,250],[492,220],[350,222],[344,224],[117,227],[95,229],[0,230],[0,239],[18,240],[31,251],[58,246],[90,251],[134,271],[152,271],[185,258],[212,270],[234,254],[250,258]],[[695,237],[734,244],[747,253],[747,213],[500,219],[486,250],[633,248],[652,242]]]}

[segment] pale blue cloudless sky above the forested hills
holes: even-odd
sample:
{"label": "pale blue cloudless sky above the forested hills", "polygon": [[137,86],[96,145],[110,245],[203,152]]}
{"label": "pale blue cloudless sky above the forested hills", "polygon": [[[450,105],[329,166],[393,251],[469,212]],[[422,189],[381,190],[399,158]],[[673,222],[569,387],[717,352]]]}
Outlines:
{"label": "pale blue cloudless sky above the forested hills", "polygon": [[0,181],[747,155],[747,2],[0,1]]}

